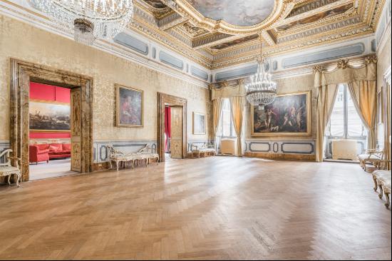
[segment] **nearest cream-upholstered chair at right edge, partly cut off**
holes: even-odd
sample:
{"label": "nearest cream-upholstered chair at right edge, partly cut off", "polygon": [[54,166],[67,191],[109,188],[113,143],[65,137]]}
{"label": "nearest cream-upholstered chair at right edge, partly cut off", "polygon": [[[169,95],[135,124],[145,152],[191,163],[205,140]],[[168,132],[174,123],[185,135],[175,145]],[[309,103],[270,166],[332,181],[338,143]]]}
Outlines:
{"label": "nearest cream-upholstered chair at right edge, partly cut off", "polygon": [[378,161],[378,170],[374,170],[373,182],[374,182],[374,191],[378,193],[378,198],[383,198],[383,195],[386,197],[386,208],[390,208],[391,203],[389,199],[389,195],[391,195],[391,170],[388,170],[389,165],[391,164],[391,160],[379,160]]}

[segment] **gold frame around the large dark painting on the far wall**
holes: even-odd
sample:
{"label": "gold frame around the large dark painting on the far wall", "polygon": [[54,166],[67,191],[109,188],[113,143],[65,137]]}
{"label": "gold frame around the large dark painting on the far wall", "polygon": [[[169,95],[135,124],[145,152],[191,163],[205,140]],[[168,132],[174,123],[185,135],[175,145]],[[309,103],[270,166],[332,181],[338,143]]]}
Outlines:
{"label": "gold frame around the large dark painting on the far wall", "polygon": [[294,96],[306,94],[306,133],[254,133],[254,106],[251,115],[251,135],[252,136],[306,136],[311,135],[311,91],[300,91],[296,93],[281,93],[277,97]]}

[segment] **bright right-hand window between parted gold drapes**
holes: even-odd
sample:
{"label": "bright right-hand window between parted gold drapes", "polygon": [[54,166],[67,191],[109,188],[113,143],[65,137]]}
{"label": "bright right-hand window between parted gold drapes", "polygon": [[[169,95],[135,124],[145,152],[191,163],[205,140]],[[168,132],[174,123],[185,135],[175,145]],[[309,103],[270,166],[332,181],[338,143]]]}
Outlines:
{"label": "bright right-hand window between parted gold drapes", "polygon": [[346,84],[339,85],[326,135],[334,138],[364,138],[367,135]]}

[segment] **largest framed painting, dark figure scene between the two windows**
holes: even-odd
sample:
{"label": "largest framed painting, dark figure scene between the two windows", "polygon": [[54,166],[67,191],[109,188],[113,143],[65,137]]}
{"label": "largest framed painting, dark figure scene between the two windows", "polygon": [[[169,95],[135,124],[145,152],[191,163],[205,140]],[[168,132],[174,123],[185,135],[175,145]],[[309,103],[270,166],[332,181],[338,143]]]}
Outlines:
{"label": "largest framed painting, dark figure scene between the two windows", "polygon": [[278,95],[267,106],[252,106],[252,135],[310,135],[311,92]]}

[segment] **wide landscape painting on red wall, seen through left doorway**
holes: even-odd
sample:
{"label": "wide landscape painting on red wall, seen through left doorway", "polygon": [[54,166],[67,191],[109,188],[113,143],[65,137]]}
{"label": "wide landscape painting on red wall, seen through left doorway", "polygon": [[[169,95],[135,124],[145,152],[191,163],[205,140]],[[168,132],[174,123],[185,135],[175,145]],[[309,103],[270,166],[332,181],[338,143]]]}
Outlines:
{"label": "wide landscape painting on red wall, seen through left doorway", "polygon": [[71,105],[56,101],[29,101],[29,128],[31,132],[71,131]]}

